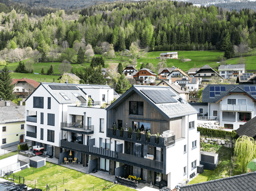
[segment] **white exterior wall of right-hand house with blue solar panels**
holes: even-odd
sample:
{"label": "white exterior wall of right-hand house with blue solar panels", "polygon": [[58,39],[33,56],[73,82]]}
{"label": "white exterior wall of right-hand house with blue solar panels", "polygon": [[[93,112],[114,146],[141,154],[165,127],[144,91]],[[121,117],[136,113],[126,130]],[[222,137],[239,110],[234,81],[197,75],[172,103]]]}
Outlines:
{"label": "white exterior wall of right-hand house with blue solar panels", "polygon": [[[222,117],[222,112],[223,111],[228,111],[228,112],[232,112],[231,110],[221,110],[222,109],[222,104],[227,104],[227,99],[236,99],[236,105],[238,105],[238,100],[237,99],[247,99],[247,105],[253,105],[253,111],[234,111],[236,112],[236,120],[235,122],[228,122],[228,121],[223,121],[223,117]],[[216,105],[216,107],[212,107],[212,105]],[[217,106],[218,105],[218,106]],[[256,116],[255,113],[255,109],[256,109],[256,105],[255,102],[253,102],[252,99],[250,99],[247,95],[243,95],[241,93],[237,94],[237,93],[232,93],[231,95],[226,96],[225,98],[222,99],[222,101],[220,101],[219,103],[213,104],[211,103],[211,112],[213,111],[214,108],[219,107],[219,115],[220,115],[220,126],[224,126],[224,124],[233,124],[233,130],[237,130],[239,128],[240,125],[245,124],[246,122],[238,122],[238,112],[248,112],[251,113],[251,119],[253,117]]]}

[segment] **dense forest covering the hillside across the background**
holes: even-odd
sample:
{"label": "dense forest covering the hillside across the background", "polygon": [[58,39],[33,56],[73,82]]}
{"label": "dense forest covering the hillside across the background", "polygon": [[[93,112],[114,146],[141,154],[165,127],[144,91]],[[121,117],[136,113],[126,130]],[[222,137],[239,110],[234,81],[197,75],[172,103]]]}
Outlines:
{"label": "dense forest covering the hillside across the background", "polygon": [[58,10],[44,17],[5,9],[0,14],[0,50],[9,49],[12,41],[41,53],[49,53],[56,43],[72,48],[82,41],[96,53],[102,42],[113,44],[115,51],[129,49],[132,42],[150,51],[223,50],[227,40],[256,47],[256,13],[249,9],[223,12],[169,0],[112,2],[85,8],[80,15]]}

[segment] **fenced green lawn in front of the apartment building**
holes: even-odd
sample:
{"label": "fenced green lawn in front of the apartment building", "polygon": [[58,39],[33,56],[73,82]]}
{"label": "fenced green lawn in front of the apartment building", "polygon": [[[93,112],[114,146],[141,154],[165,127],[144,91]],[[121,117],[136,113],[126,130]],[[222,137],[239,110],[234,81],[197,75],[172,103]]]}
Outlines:
{"label": "fenced green lawn in front of the apartment building", "polygon": [[[46,166],[41,168],[26,168],[22,171],[15,173],[15,176],[25,177],[25,183],[28,187],[36,188],[43,191],[46,190],[48,184],[50,190],[65,191],[98,191],[102,189],[106,181],[95,176],[86,175],[84,173],[77,173],[77,171],[65,168],[59,165],[46,163]],[[64,177],[64,184],[63,184]],[[110,182],[107,181],[107,184]],[[109,191],[132,191],[131,188],[126,186],[117,185],[109,189]]]}

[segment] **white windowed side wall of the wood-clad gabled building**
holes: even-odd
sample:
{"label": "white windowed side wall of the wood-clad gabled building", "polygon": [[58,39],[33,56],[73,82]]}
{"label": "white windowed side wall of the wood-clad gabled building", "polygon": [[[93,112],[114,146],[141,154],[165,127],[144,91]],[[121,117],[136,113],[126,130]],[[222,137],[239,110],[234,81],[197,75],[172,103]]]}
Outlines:
{"label": "white windowed side wall of the wood-clad gabled building", "polygon": [[[195,121],[195,128],[189,129],[189,122]],[[166,149],[166,174],[168,174],[168,186],[173,189],[182,180],[189,179],[190,174],[197,171],[191,169],[191,162],[197,160],[199,165],[200,133],[197,132],[197,115],[182,117],[182,137],[175,141],[175,145]],[[175,132],[174,132],[175,134]],[[192,142],[197,141],[197,147],[192,149]],[[186,152],[184,153],[184,145]],[[186,167],[186,174],[183,169]]]}

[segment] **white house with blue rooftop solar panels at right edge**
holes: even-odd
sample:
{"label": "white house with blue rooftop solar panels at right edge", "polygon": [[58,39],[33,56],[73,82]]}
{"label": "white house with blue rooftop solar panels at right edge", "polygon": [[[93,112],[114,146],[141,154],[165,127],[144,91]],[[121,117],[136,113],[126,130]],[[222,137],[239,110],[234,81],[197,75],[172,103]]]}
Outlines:
{"label": "white house with blue rooftop solar panels at right edge", "polygon": [[256,86],[207,85],[202,102],[208,103],[208,116],[219,120],[220,126],[237,130],[256,116]]}

